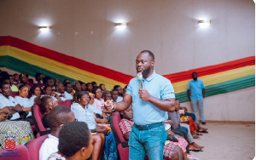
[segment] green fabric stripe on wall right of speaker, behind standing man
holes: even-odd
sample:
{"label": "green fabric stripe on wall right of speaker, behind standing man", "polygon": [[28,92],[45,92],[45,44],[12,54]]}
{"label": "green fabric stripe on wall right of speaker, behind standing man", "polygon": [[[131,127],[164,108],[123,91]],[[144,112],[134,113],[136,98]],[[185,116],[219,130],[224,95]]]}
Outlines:
{"label": "green fabric stripe on wall right of speaker, behind standing man", "polygon": [[[238,89],[255,86],[255,75],[240,77],[224,83],[212,84],[206,86],[206,97],[215,94],[224,94]],[[189,101],[187,91],[175,94],[180,102]]]}

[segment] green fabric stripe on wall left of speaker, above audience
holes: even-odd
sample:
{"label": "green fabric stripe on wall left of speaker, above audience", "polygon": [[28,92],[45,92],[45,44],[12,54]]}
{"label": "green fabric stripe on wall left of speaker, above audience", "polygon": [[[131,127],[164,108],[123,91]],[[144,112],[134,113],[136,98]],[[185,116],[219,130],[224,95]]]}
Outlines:
{"label": "green fabric stripe on wall left of speaker, above audience", "polygon": [[73,78],[66,77],[61,74],[57,74],[53,71],[45,70],[44,68],[41,68],[38,66],[33,66],[29,63],[15,59],[14,57],[11,57],[11,56],[0,56],[0,66],[6,67],[13,71],[18,71],[20,73],[24,72],[31,77],[35,77],[35,74],[37,72],[40,72],[44,75],[44,77],[49,76],[52,78],[58,78],[61,82],[63,82],[65,79],[68,79],[71,83],[76,81]]}

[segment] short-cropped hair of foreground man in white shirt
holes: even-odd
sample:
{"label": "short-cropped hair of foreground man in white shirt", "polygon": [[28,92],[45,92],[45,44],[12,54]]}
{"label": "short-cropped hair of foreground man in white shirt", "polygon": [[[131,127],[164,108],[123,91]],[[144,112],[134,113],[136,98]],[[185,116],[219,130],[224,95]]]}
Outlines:
{"label": "short-cropped hair of foreground man in white shirt", "polygon": [[55,106],[49,111],[49,117],[47,118],[49,129],[55,131],[61,124],[67,123],[67,114],[70,111],[70,108],[67,106]]}

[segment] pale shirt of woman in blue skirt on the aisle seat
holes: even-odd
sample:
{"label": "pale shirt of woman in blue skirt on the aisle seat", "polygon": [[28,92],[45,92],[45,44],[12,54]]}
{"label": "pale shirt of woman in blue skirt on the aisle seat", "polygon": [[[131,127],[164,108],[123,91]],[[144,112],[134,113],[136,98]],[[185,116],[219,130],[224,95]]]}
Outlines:
{"label": "pale shirt of woman in blue skirt on the aisle seat", "polygon": [[102,112],[101,110],[97,110],[99,109],[92,105],[88,105],[83,108],[83,106],[80,106],[79,103],[73,103],[71,106],[71,111],[73,111],[73,114],[78,119],[78,121],[87,123],[89,129],[96,129],[94,112],[99,114]]}

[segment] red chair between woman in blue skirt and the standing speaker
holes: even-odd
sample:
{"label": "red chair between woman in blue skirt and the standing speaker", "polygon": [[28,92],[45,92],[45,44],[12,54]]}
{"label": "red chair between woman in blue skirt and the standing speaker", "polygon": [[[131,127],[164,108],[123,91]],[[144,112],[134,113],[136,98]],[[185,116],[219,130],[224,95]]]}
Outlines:
{"label": "red chair between woman in blue skirt and the standing speaker", "polygon": [[129,159],[129,147],[128,141],[125,140],[124,135],[119,127],[119,122],[121,121],[120,113],[113,112],[112,117],[110,117],[110,126],[113,131],[113,136],[118,144],[118,151],[119,157],[121,160],[128,160]]}

